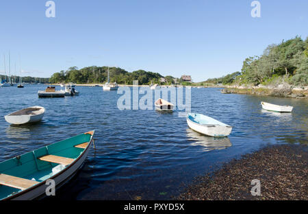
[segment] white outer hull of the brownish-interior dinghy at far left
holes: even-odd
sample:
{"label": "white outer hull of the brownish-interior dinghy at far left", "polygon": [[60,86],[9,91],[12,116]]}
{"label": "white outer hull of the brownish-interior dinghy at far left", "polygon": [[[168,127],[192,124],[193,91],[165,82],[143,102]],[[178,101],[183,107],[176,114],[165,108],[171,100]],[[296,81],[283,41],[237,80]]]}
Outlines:
{"label": "white outer hull of the brownish-interior dinghy at far left", "polygon": [[[30,108],[42,108],[40,106],[34,106]],[[44,109],[44,108],[43,108]],[[36,123],[42,120],[44,117],[45,110],[42,111],[39,115],[6,115],[4,116],[5,121],[14,125],[23,125],[26,123]]]}

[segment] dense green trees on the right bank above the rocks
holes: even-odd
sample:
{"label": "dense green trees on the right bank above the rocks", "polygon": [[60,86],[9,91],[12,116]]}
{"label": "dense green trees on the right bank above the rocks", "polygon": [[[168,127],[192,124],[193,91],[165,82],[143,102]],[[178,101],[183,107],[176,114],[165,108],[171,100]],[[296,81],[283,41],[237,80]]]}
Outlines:
{"label": "dense green trees on the right bank above the rocks", "polygon": [[296,86],[308,85],[308,37],[303,40],[296,36],[278,45],[269,45],[261,56],[246,58],[241,71],[205,82],[258,85],[274,80]]}

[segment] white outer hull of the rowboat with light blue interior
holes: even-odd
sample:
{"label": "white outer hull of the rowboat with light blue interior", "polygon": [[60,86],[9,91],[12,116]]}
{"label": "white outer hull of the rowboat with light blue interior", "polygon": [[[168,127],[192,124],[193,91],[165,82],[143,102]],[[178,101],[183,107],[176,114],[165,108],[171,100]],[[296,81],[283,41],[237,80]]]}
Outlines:
{"label": "white outer hull of the rowboat with light blue interior", "polygon": [[229,136],[232,131],[231,126],[201,125],[198,123],[194,123],[188,118],[187,124],[192,130],[195,130],[196,132],[205,134],[207,136]]}

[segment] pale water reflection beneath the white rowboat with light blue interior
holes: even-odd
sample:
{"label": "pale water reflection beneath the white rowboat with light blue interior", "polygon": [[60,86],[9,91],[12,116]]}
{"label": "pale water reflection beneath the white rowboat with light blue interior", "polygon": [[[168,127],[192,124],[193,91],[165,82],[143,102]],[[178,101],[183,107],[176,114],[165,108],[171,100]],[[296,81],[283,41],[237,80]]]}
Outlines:
{"label": "pale water reflection beneath the white rowboat with light blue interior", "polygon": [[190,145],[202,145],[203,152],[209,152],[211,150],[223,150],[227,147],[231,147],[232,143],[228,137],[211,137],[199,134],[190,128],[186,129],[186,136],[188,141],[194,141]]}

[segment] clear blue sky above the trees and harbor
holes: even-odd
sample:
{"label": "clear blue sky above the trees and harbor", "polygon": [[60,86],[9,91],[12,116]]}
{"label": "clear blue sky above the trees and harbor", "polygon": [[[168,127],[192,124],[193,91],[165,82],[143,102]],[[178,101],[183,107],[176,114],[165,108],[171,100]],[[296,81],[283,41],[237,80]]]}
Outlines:
{"label": "clear blue sky above the trees and harbor", "polygon": [[17,75],[97,65],[201,82],[240,71],[272,43],[308,36],[307,0],[260,0],[261,18],[251,17],[252,0],[54,0],[55,18],[46,2],[1,1],[0,73],[10,51]]}

